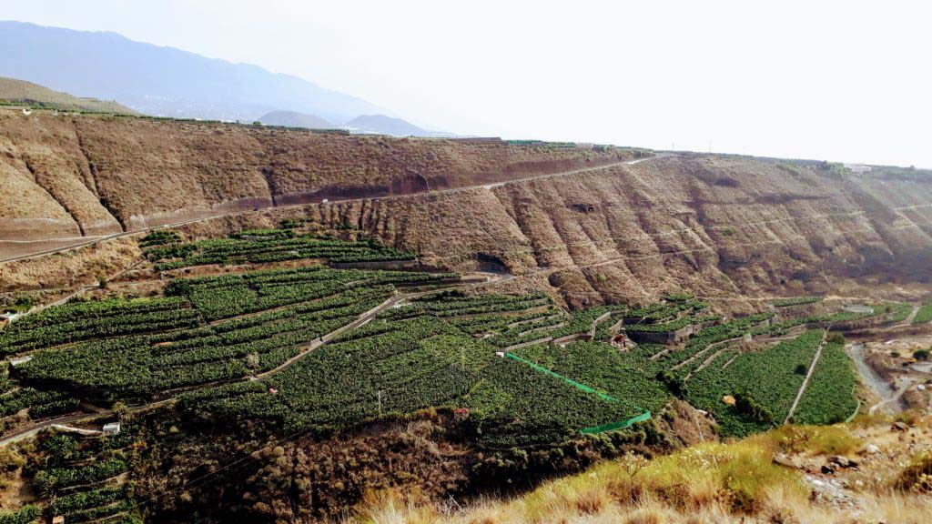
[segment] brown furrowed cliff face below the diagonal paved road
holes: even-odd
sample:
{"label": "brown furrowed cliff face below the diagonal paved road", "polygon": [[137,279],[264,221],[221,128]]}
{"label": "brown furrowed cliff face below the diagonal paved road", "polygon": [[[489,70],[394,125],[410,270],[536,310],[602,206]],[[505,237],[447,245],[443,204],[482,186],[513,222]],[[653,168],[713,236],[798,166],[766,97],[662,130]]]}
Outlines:
{"label": "brown furrowed cliff face below the diagonal paved road", "polygon": [[185,227],[192,237],[285,216],[369,231],[425,263],[499,263],[507,285],[570,306],[703,296],[826,293],[844,279],[922,283],[932,179],[788,172],[774,162],[670,157],[633,166],[404,199],[308,206]]}

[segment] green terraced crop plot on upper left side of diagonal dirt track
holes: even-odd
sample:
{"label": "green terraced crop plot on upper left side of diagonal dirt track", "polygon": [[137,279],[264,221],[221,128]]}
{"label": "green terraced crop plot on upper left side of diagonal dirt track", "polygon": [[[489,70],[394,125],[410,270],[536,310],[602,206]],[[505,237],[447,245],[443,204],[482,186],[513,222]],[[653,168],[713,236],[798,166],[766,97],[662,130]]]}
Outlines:
{"label": "green terraced crop plot on upper left side of diagonal dirt track", "polygon": [[[244,379],[322,343],[324,335],[391,296],[393,283],[432,283],[446,276],[310,267],[177,279],[168,286],[169,297],[69,305],[49,310],[49,316],[69,321],[64,324],[103,325],[154,302],[184,305],[179,310],[190,312],[185,318],[195,322],[133,335],[128,329],[102,332],[68,347],[41,347],[17,368],[17,376],[44,390],[102,402],[142,401],[159,392]],[[47,328],[47,321],[37,318],[17,336],[29,339],[31,332]]]}

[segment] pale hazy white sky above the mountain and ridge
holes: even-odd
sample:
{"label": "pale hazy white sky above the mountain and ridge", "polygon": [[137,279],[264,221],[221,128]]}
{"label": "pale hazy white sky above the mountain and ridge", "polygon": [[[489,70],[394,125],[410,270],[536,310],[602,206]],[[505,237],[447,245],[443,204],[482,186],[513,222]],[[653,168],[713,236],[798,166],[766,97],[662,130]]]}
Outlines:
{"label": "pale hazy white sky above the mountain and ridge", "polygon": [[0,0],[434,129],[932,168],[932,3]]}

